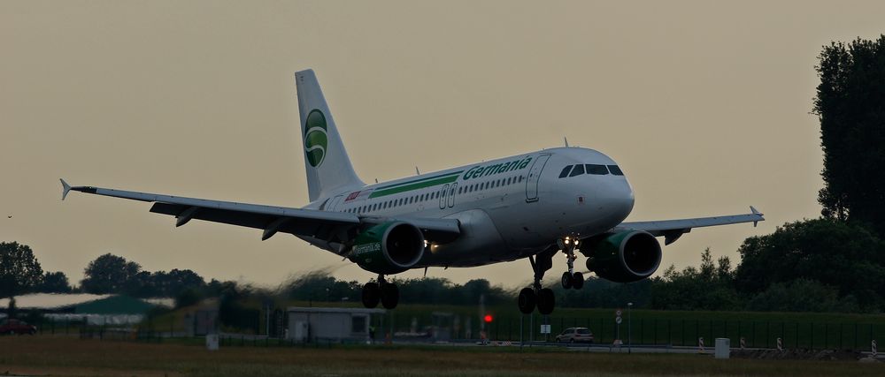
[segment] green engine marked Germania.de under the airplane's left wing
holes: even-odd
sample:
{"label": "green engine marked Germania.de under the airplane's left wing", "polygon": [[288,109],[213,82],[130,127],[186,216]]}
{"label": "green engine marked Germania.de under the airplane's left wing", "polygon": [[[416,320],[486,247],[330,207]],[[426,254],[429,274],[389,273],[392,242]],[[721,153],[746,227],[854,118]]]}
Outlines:
{"label": "green engine marked Germania.de under the airplane's left wing", "polygon": [[376,274],[398,274],[424,256],[424,234],[408,222],[384,222],[360,232],[350,260]]}

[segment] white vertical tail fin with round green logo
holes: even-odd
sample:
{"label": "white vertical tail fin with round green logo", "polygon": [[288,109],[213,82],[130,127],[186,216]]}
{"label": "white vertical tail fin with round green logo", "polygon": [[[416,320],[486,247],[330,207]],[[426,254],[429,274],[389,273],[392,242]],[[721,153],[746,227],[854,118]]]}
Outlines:
{"label": "white vertical tail fin with round green logo", "polygon": [[366,185],[357,177],[344,150],[341,135],[319,88],[313,70],[295,72],[301,134],[304,138],[304,169],[311,201],[349,187]]}

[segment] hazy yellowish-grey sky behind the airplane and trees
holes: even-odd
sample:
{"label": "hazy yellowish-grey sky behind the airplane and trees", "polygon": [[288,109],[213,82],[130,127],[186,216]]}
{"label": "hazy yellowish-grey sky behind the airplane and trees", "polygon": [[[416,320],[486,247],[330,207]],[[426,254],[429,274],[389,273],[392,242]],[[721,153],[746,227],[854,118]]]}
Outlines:
{"label": "hazy yellowish-grey sky behind the airplane and trees", "polygon": [[[666,246],[659,272],[697,265],[705,247],[736,264],[744,238],[820,214],[813,66],[830,41],[877,37],[883,14],[881,1],[0,2],[0,240],[30,245],[72,283],[104,253],[267,286],[323,268],[367,281],[288,235],[261,242],[210,222],[176,229],[147,203],[59,200],[65,177],[303,206],[293,72],[312,68],[366,182],[566,136],[619,162],[630,220],[758,207],[758,228]],[[565,264],[559,254],[551,276]],[[531,269],[427,275],[516,287]]]}

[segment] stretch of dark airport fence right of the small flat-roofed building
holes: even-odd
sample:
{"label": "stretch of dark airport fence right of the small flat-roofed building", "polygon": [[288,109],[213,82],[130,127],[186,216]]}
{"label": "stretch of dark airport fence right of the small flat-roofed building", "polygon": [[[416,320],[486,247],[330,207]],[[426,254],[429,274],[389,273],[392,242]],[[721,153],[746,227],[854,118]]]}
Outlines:
{"label": "stretch of dark airport fence right of the small flat-roofed building", "polygon": [[[390,316],[387,316],[390,317]],[[694,347],[698,338],[704,338],[704,344],[711,346],[716,338],[729,338],[731,344],[738,348],[777,348],[781,339],[783,348],[809,350],[869,350],[873,340],[885,339],[885,324],[881,323],[846,323],[846,322],[801,322],[779,320],[656,320],[628,319],[623,316],[620,325],[614,318],[579,318],[565,316],[543,316],[539,314],[522,315],[494,319],[484,323],[483,329],[478,324],[460,321],[460,326],[440,326],[439,321],[432,323],[426,319],[426,331],[414,334],[404,329],[415,328],[414,318],[396,319],[390,317],[389,327],[383,321],[379,325],[385,331],[394,334],[426,336],[435,340],[445,334],[452,341],[478,340],[481,333],[489,341],[505,342],[555,342],[558,334],[566,328],[589,328],[594,336],[594,343],[613,344],[620,339],[623,344],[656,346]],[[420,323],[420,321],[419,321]],[[542,325],[549,325],[549,334],[543,334]],[[417,326],[420,328],[420,325]]]}

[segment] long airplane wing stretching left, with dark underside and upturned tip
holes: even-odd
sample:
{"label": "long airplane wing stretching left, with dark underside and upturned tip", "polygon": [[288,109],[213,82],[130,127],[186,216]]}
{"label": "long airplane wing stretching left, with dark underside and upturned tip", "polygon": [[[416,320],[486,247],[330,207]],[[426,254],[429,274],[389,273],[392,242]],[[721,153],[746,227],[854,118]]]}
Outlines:
{"label": "long airplane wing stretching left, with dark underside and upturned tip", "polygon": [[410,222],[418,227],[424,233],[424,237],[431,242],[450,242],[458,238],[460,234],[459,223],[455,219],[359,216],[345,212],[204,200],[94,186],[72,187],[64,179],[61,180],[61,185],[62,200],[65,200],[68,192],[73,190],[115,198],[148,201],[154,203],[150,207],[150,212],[175,216],[175,226],[184,225],[193,219],[222,222],[264,230],[261,236],[262,240],[273,237],[277,232],[283,232],[343,244],[356,237],[358,227],[361,225],[388,221]]}

